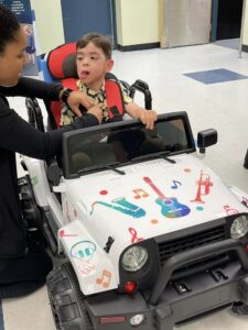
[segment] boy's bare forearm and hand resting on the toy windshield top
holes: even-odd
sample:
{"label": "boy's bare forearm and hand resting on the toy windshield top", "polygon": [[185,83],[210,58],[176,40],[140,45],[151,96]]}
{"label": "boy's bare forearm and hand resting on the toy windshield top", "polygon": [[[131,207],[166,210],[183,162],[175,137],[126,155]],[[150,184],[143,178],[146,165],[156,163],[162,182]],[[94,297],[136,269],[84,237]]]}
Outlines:
{"label": "boy's bare forearm and hand resting on the toy windshield top", "polygon": [[152,130],[154,128],[154,121],[158,119],[158,114],[154,110],[145,110],[137,103],[130,102],[126,106],[126,111],[132,118],[140,119],[147,129]]}

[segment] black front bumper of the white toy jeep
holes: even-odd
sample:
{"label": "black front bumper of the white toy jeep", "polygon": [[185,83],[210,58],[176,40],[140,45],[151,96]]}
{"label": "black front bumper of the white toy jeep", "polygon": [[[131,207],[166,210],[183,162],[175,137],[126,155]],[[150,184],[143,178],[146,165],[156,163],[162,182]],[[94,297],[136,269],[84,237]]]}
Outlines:
{"label": "black front bumper of the white toy jeep", "polygon": [[[177,267],[214,253],[230,251],[237,258],[224,267],[170,282]],[[237,240],[225,240],[170,257],[151,293],[128,296],[107,292],[86,298],[95,330],[132,330],[130,319],[134,315],[144,315],[144,321],[136,329],[172,330],[176,322],[233,301],[248,304],[248,253]],[[116,319],[119,322],[110,323],[115,316],[120,317]]]}

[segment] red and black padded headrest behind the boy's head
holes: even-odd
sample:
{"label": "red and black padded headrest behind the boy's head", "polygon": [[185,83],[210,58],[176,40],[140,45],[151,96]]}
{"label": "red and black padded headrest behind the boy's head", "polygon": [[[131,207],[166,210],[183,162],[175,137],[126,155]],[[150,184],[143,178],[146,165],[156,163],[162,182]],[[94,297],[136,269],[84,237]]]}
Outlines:
{"label": "red and black padded headrest behind the boy's head", "polygon": [[76,43],[63,44],[47,55],[47,68],[55,79],[77,77]]}

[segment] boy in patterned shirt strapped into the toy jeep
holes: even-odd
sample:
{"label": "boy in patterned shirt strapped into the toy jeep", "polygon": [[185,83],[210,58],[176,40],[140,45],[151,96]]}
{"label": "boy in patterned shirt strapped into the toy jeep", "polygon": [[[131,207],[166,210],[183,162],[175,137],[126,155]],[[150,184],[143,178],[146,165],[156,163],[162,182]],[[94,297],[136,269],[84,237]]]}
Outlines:
{"label": "boy in patterned shirt strapped into the toy jeep", "polygon": [[[93,105],[103,105],[103,122],[108,122],[105,75],[110,73],[114,66],[110,41],[99,33],[89,33],[77,42],[76,50],[76,66],[79,77],[77,80],[78,90],[86,92]],[[147,129],[153,129],[154,121],[158,118],[155,111],[145,110],[136,105],[129,97],[128,90],[121,82],[119,84],[127,113],[134,119],[140,119]],[[62,109],[61,123],[65,125],[74,120],[74,112],[69,108],[64,107]]]}

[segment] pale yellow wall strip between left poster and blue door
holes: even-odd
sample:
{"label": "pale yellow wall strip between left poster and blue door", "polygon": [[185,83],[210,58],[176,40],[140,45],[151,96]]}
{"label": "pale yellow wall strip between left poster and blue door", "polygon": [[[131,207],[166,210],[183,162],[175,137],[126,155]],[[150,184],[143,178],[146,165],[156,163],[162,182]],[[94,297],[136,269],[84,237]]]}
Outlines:
{"label": "pale yellow wall strip between left poster and blue door", "polygon": [[31,0],[35,12],[40,53],[64,43],[61,0]]}

